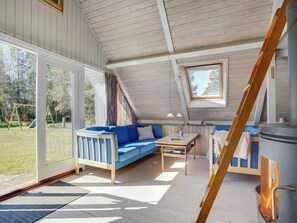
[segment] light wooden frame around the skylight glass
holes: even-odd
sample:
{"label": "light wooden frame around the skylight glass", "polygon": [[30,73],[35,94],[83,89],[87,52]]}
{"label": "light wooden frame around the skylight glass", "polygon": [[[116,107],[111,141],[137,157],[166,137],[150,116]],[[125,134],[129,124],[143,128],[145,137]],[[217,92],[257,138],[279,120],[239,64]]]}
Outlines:
{"label": "light wooden frame around the skylight glass", "polygon": [[[194,96],[192,83],[190,81],[190,71],[191,70],[204,70],[210,67],[218,67],[219,68],[219,83],[220,83],[220,95],[219,96]],[[186,81],[187,81],[187,88],[188,93],[190,95],[191,100],[223,100],[224,99],[224,72],[223,72],[223,63],[212,63],[212,64],[201,64],[197,66],[188,66],[185,67],[186,70]]]}

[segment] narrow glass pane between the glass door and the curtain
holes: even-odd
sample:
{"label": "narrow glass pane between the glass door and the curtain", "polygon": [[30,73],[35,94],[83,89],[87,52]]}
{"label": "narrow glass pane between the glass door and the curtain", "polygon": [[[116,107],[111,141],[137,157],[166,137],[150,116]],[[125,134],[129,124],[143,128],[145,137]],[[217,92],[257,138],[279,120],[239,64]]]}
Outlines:
{"label": "narrow glass pane between the glass door and the curtain", "polygon": [[105,125],[106,96],[104,76],[89,69],[85,70],[85,126]]}

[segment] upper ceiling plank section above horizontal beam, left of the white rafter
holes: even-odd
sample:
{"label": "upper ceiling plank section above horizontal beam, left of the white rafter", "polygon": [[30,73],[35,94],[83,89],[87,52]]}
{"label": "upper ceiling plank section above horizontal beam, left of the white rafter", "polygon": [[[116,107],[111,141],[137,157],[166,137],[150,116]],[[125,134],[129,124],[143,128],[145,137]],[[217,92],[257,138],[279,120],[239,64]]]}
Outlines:
{"label": "upper ceiling plank section above horizontal beam, left of the white rafter", "polygon": [[108,60],[167,52],[156,0],[79,0]]}

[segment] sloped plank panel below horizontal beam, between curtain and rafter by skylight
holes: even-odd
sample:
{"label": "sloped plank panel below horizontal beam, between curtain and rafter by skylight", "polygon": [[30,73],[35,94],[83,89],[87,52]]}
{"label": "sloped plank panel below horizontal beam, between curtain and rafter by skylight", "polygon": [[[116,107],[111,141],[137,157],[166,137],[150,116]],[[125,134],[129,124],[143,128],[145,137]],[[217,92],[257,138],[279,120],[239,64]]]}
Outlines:
{"label": "sloped plank panel below horizontal beam, between curtain and rafter by skylight", "polygon": [[[181,113],[179,94],[170,62],[119,68],[118,80],[138,119],[165,119]],[[171,106],[170,106],[171,82]]]}

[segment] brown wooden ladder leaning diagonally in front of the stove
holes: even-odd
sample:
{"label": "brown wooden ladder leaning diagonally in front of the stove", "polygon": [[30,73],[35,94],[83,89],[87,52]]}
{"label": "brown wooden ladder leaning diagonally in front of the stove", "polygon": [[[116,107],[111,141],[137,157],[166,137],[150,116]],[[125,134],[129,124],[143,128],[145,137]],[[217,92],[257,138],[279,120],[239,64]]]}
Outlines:
{"label": "brown wooden ladder leaning diagonally in front of the stove", "polygon": [[203,223],[206,221],[210,209],[222,185],[241,134],[257,99],[257,95],[269,68],[282,31],[285,27],[286,7],[288,2],[289,0],[284,0],[282,7],[276,11],[271,26],[265,36],[258,60],[251,73],[249,82],[244,89],[243,97],[233,119],[225,145],[214,168],[213,174],[209,179],[205,196],[200,203],[201,210],[196,221],[198,223]]}

